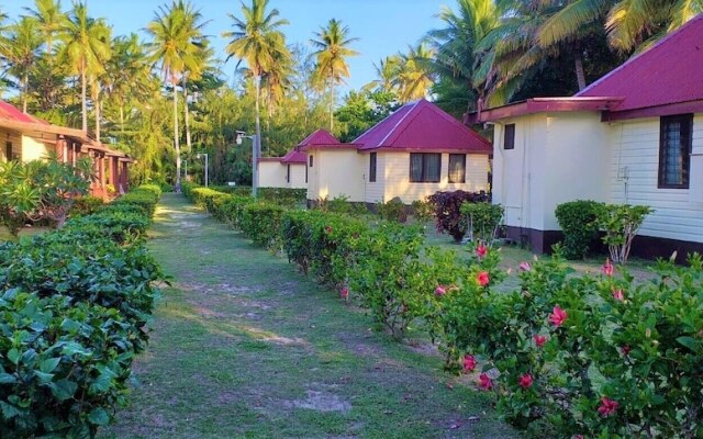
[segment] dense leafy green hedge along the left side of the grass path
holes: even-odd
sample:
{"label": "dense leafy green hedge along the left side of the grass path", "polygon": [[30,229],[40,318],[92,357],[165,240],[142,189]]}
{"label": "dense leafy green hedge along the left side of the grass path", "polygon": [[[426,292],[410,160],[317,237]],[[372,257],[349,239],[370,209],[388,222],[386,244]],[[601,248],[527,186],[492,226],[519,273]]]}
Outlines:
{"label": "dense leafy green hedge along the left side of the grass path", "polygon": [[94,437],[125,403],[163,278],[138,238],[158,196],[0,245],[0,437]]}

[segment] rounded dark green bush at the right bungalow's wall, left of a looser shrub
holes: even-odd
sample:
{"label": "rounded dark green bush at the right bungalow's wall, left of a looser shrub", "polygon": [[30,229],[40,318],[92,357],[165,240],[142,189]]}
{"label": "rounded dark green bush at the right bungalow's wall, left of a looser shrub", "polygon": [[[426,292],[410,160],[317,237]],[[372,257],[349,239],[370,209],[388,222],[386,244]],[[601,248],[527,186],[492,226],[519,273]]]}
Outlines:
{"label": "rounded dark green bush at the right bungalow's wall, left of a looser shrub", "polygon": [[557,206],[555,215],[563,232],[563,256],[583,259],[598,238],[599,212],[603,203],[577,200]]}

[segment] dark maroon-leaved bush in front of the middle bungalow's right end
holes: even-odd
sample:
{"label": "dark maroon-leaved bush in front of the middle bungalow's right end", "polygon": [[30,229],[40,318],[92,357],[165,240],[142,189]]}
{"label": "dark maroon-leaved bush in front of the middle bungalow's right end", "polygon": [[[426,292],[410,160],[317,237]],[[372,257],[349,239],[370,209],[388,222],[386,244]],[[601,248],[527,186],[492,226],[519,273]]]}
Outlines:
{"label": "dark maroon-leaved bush in front of the middle bungalow's right end", "polygon": [[457,243],[464,238],[468,227],[466,216],[460,212],[461,204],[465,202],[480,203],[488,200],[484,192],[466,191],[437,192],[427,198],[435,210],[437,232],[448,233]]}

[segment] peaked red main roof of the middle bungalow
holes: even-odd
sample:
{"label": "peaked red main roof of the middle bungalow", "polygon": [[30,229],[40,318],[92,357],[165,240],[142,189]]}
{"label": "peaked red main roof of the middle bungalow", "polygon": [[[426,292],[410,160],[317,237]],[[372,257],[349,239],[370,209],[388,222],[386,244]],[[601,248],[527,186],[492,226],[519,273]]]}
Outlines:
{"label": "peaked red main roof of the middle bungalow", "polygon": [[434,103],[408,103],[354,140],[358,149],[491,154],[491,143]]}

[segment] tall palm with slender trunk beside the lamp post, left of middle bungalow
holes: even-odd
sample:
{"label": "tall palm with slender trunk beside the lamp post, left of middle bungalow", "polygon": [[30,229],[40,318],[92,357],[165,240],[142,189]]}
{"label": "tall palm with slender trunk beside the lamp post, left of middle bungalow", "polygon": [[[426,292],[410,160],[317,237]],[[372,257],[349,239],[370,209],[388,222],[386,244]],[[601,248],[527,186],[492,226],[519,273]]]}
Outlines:
{"label": "tall palm with slender trunk beside the lamp post, left of middle bungalow", "polygon": [[267,8],[268,0],[252,0],[250,7],[242,4],[244,20],[230,14],[234,30],[222,34],[231,38],[225,47],[227,59],[236,56],[239,63],[246,60],[254,77],[257,151],[261,150],[261,78],[276,68],[287,52],[286,37],[280,27],[288,24],[288,20],[279,19],[277,9],[267,12]]}

